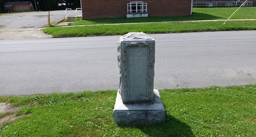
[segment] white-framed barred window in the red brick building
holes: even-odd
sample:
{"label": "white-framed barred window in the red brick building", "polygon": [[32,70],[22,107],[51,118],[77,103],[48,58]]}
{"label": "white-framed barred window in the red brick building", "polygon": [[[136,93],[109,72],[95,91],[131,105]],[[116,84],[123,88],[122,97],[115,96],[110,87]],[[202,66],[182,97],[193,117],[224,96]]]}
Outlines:
{"label": "white-framed barred window in the red brick building", "polygon": [[143,1],[131,1],[127,3],[127,13],[147,12],[147,3]]}

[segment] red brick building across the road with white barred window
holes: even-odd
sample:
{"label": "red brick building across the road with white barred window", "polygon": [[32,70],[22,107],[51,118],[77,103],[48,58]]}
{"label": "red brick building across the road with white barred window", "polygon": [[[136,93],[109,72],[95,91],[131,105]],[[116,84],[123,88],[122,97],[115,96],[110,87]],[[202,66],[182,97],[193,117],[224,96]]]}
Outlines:
{"label": "red brick building across the road with white barred window", "polygon": [[81,0],[82,18],[184,16],[192,0]]}

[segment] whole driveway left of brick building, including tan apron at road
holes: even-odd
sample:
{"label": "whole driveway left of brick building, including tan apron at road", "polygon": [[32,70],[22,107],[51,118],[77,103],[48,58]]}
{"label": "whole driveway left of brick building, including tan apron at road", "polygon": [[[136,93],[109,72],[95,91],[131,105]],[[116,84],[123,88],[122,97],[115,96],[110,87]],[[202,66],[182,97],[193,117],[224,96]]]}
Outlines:
{"label": "whole driveway left of brick building, including tan apron at road", "polygon": [[[51,35],[43,33],[41,26],[48,24],[48,11],[23,12],[0,15],[1,39],[46,38]],[[56,22],[64,17],[64,10],[50,11],[50,22]]]}

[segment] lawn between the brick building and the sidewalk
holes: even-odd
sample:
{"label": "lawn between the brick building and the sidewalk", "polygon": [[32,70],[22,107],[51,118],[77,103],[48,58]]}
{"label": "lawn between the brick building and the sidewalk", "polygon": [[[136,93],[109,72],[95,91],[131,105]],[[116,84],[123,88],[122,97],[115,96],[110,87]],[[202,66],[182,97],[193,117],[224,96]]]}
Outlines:
{"label": "lawn between the brick building and the sidewalk", "polygon": [[[214,8],[193,8],[192,15],[178,17],[138,17],[138,18],[103,18],[77,20],[70,25],[83,24],[106,24],[106,23],[130,23],[130,22],[152,22],[152,21],[174,21],[174,20],[202,20],[202,19],[226,19],[238,7],[214,7]],[[233,16],[232,19],[256,18],[256,7],[242,7]]]}

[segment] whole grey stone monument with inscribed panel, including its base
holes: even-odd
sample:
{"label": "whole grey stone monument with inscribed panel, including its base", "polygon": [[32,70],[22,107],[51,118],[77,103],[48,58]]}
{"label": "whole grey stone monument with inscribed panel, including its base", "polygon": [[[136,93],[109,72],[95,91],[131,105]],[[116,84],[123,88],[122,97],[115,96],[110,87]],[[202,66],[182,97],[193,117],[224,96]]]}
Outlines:
{"label": "whole grey stone monument with inscribed panel, including its base", "polygon": [[114,121],[122,125],[158,123],[165,109],[153,89],[155,41],[143,32],[130,32],[118,42],[119,89]]}

